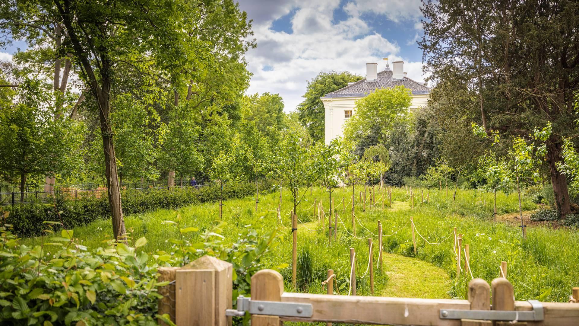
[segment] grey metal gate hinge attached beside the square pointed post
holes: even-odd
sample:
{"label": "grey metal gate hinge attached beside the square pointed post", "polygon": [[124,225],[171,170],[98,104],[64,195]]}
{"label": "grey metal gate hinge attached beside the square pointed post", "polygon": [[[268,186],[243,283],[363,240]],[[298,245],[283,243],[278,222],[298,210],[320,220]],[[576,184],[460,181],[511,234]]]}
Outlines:
{"label": "grey metal gate hinge attached beside the square pointed post", "polygon": [[250,314],[309,318],[312,317],[313,307],[309,303],[259,301],[240,295],[237,297],[237,309],[226,309],[225,316],[241,317],[245,311]]}

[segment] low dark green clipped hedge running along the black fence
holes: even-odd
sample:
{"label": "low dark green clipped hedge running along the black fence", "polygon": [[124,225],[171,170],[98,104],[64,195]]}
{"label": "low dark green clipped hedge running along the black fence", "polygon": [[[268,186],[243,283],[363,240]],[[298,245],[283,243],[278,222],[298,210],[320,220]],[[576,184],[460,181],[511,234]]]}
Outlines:
{"label": "low dark green clipped hedge running along the black fence", "polygon": [[[260,190],[269,192],[272,184],[264,182]],[[223,200],[243,198],[255,194],[255,183],[230,183],[223,186]],[[176,209],[189,204],[219,201],[219,184],[192,189],[187,187],[172,190],[123,190],[121,192],[124,215],[155,211],[156,209]],[[53,204],[35,202],[4,207],[9,211],[5,223],[12,224],[13,233],[20,237],[38,236],[45,229],[44,221],[61,222],[67,229],[108,219],[111,216],[108,198],[94,196],[79,200],[67,200],[61,196]]]}

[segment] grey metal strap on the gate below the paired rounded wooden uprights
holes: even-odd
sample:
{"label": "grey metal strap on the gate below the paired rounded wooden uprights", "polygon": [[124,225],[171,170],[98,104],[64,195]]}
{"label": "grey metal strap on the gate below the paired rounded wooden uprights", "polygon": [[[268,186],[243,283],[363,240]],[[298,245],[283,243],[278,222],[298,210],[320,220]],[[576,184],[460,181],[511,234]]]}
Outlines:
{"label": "grey metal strap on the gate below the paired rounded wooden uprights", "polygon": [[527,300],[533,310],[464,310],[441,309],[441,319],[473,319],[502,321],[541,321],[545,319],[543,305],[538,300]]}

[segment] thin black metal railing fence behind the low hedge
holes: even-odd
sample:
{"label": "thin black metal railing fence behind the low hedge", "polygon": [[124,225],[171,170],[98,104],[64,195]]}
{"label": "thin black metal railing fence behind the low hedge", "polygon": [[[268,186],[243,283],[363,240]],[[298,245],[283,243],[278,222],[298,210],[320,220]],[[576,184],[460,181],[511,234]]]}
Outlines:
{"label": "thin black metal railing fence behind the low hedge", "polygon": [[[122,190],[139,190],[139,191],[151,191],[151,190],[168,190],[168,186],[155,186],[148,184],[147,187],[130,187],[130,185],[138,185],[140,183],[123,183]],[[206,187],[209,184],[198,184],[196,186],[175,185],[175,189],[199,189],[200,187]],[[42,190],[41,190],[42,189]],[[9,189],[10,190],[10,189]],[[14,190],[14,188],[12,188]],[[30,190],[30,189],[29,189]],[[24,196],[23,196],[24,194]],[[53,202],[56,197],[65,198],[66,200],[79,200],[82,197],[106,197],[107,196],[107,185],[106,184],[80,184],[80,185],[57,185],[54,186],[50,191],[45,191],[43,187],[37,187],[37,190],[33,191],[11,191],[2,192],[0,191],[0,205],[15,205],[15,204],[27,204],[31,202]]]}

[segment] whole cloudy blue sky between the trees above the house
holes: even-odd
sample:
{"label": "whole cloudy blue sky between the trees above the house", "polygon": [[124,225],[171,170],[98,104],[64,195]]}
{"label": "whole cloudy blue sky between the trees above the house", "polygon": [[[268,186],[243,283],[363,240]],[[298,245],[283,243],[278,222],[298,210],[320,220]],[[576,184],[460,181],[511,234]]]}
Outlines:
{"label": "whole cloudy blue sky between the trees above the house", "polygon": [[[302,102],[307,80],[321,71],[365,77],[404,60],[408,78],[423,81],[420,0],[239,0],[253,20],[257,48],[245,55],[253,74],[248,93],[279,93],[285,111]],[[391,64],[390,64],[391,67]]]}

